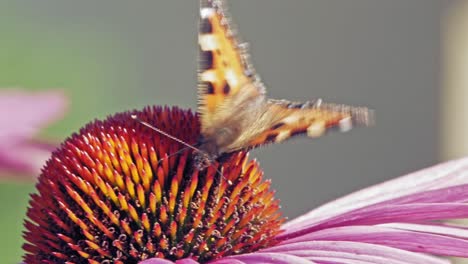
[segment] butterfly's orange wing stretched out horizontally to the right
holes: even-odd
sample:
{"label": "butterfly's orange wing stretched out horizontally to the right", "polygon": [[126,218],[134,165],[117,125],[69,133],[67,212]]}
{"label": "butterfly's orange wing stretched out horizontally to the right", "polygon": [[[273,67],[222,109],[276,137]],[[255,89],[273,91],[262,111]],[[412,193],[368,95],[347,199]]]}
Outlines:
{"label": "butterfly's orange wing stretched out horizontally to the right", "polygon": [[295,103],[270,99],[255,125],[247,128],[252,131],[244,132],[250,138],[233,142],[228,152],[279,143],[297,135],[316,138],[330,130],[345,132],[356,125],[371,125],[373,120],[372,110],[365,107],[328,104],[322,100]]}

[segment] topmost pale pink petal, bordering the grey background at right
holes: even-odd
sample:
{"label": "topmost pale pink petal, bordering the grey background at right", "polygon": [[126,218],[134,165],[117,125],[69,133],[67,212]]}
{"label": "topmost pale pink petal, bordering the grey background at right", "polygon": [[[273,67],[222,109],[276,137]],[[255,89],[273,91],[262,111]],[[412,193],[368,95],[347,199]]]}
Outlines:
{"label": "topmost pale pink petal, bordering the grey background at right", "polygon": [[283,227],[286,231],[285,234],[288,234],[301,229],[304,225],[313,225],[352,210],[420,192],[462,184],[468,184],[468,158],[449,161],[363,189],[312,210],[289,221]]}

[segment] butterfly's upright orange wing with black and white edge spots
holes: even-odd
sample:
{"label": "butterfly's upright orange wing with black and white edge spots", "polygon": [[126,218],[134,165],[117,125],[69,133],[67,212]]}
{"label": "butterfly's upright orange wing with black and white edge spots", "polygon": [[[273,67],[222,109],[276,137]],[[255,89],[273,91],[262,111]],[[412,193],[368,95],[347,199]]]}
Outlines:
{"label": "butterfly's upright orange wing with black and white edge spots", "polygon": [[201,1],[198,42],[198,112],[203,129],[227,118],[226,111],[235,111],[230,99],[238,96],[241,89],[255,97],[263,95],[264,88],[249,62],[246,43],[239,40],[230,23],[223,1]]}

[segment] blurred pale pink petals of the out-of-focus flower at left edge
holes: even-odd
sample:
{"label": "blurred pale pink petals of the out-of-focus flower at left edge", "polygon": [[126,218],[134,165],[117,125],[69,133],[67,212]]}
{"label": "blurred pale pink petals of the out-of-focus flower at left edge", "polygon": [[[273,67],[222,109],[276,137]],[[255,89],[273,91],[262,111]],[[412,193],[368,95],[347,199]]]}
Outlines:
{"label": "blurred pale pink petals of the out-of-focus flower at left edge", "polygon": [[37,174],[54,146],[33,140],[67,107],[59,91],[0,91],[0,170]]}

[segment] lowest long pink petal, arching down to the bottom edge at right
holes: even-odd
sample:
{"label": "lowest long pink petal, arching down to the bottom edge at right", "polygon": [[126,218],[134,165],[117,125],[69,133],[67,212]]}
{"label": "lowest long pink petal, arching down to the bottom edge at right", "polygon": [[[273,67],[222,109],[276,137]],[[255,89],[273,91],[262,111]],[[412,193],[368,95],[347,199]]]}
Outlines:
{"label": "lowest long pink petal, arching down to the bottom edge at right", "polygon": [[288,253],[317,262],[317,257],[340,258],[372,263],[447,264],[447,260],[388,246],[350,241],[311,241],[280,244],[263,252]]}

